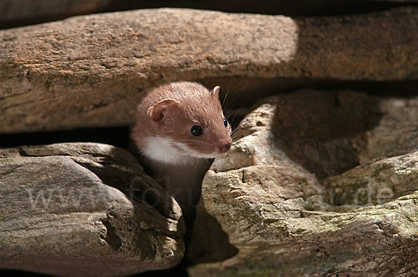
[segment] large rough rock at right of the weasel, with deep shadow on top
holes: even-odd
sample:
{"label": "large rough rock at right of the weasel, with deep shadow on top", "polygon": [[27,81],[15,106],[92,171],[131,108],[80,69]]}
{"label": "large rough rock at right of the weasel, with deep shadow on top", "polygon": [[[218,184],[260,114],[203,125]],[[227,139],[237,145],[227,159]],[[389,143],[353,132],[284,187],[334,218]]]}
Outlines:
{"label": "large rough rock at right of the weasel, with deep shadow on top", "polygon": [[218,249],[189,275],[417,275],[417,100],[348,90],[263,100],[212,164],[197,214],[238,253],[221,260]]}

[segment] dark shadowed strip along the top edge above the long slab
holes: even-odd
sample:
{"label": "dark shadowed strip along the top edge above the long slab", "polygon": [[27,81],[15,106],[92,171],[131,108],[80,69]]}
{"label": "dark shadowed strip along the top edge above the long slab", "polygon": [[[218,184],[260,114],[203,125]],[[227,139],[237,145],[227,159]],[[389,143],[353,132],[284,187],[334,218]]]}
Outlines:
{"label": "dark shadowed strip along the top edge above the long slab", "polygon": [[[0,19],[0,29],[28,26],[45,22],[53,22],[75,15],[86,15],[94,13],[111,13],[124,10],[137,10],[144,8],[194,8],[201,10],[218,10],[225,13],[258,13],[263,15],[285,15],[289,17],[314,17],[314,16],[333,16],[333,15],[353,15],[359,13],[371,13],[390,8],[402,6],[417,6],[417,3],[402,1],[373,1],[373,0],[316,0],[316,1],[129,1],[112,0],[107,6],[93,8],[92,10],[72,10],[51,11],[49,15],[15,15],[16,19]],[[0,6],[1,8],[1,6]],[[4,7],[3,7],[4,8]],[[15,13],[14,10],[11,11]],[[10,13],[6,10],[3,13]],[[0,13],[1,17],[1,13]],[[10,15],[8,15],[10,17]]]}

